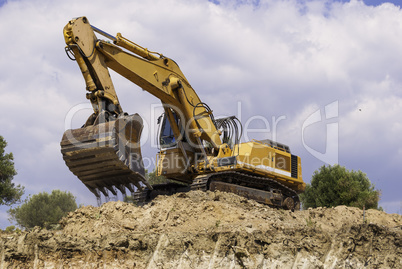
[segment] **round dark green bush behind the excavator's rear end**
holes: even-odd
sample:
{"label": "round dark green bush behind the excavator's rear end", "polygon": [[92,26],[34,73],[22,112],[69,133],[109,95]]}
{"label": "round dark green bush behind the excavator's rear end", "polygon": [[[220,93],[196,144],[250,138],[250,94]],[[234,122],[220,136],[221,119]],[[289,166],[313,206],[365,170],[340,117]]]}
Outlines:
{"label": "round dark green bush behind the excavator's rear end", "polygon": [[300,199],[304,209],[338,205],[378,209],[380,191],[374,189],[367,175],[360,170],[324,165],[314,172],[311,184],[307,184]]}

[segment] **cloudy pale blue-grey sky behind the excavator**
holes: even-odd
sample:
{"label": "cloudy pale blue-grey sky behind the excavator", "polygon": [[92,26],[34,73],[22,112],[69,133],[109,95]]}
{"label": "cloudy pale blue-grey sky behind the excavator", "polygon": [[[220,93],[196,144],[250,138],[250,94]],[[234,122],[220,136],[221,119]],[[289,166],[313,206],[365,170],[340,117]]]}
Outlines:
{"label": "cloudy pale blue-grey sky behind the excavator", "polygon": [[[0,135],[24,197],[60,189],[96,205],[59,145],[92,113],[64,51],[63,27],[79,16],[174,59],[216,118],[242,121],[242,141],[274,139],[300,156],[306,182],[322,165],[361,170],[384,210],[402,213],[399,1],[0,1]],[[152,170],[160,102],[111,75],[123,109],[144,119]]]}

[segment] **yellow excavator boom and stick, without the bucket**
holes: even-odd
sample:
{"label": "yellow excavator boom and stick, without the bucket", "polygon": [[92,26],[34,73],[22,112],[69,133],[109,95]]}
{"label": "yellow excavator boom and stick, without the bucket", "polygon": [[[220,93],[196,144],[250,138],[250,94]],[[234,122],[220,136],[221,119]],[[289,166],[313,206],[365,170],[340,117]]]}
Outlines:
{"label": "yellow excavator boom and stick, without the bucket", "polygon": [[[97,39],[95,32],[113,43]],[[202,141],[206,141],[219,150],[222,141],[210,117],[212,112],[207,110],[173,60],[162,55],[157,57],[121,34],[113,37],[91,26],[85,17],[71,20],[64,28],[64,37],[67,49],[74,53],[80,66],[89,91],[87,98],[95,114],[105,110],[116,116],[123,112],[110,79],[110,68],[172,109],[183,125],[176,129],[185,130],[193,148],[200,151],[204,147]]]}

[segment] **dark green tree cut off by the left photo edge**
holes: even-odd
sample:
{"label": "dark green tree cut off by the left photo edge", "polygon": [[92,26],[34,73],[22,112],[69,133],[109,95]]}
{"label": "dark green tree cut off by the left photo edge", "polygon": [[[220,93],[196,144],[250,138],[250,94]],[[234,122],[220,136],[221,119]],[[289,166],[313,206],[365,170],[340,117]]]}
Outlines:
{"label": "dark green tree cut off by the left photo edge", "polygon": [[0,136],[0,205],[12,205],[20,201],[24,187],[12,182],[17,174],[13,154],[5,153],[7,142]]}

